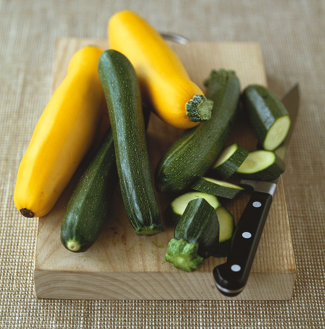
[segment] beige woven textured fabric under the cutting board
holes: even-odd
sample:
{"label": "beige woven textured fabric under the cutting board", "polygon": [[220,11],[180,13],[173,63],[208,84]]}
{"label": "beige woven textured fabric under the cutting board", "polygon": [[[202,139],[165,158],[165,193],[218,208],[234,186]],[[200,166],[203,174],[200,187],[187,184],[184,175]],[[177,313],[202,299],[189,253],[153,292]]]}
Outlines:
{"label": "beige woven textured fabric under the cutting board", "polygon": [[[132,9],[191,40],[256,41],[269,86],[301,86],[301,115],[284,175],[297,264],[290,301],[37,300],[37,221],[13,204],[19,161],[50,97],[54,43],[106,38]],[[325,1],[0,0],[0,328],[325,328]]]}

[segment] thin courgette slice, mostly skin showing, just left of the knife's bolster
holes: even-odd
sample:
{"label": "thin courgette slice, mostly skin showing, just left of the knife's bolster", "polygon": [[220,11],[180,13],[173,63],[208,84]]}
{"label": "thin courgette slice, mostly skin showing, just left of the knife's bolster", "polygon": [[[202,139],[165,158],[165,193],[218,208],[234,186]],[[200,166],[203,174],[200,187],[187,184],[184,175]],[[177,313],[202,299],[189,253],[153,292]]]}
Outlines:
{"label": "thin courgette slice, mostly skin showing, just left of the knife's bolster", "polygon": [[191,188],[228,199],[233,199],[244,190],[241,186],[209,177],[200,177]]}

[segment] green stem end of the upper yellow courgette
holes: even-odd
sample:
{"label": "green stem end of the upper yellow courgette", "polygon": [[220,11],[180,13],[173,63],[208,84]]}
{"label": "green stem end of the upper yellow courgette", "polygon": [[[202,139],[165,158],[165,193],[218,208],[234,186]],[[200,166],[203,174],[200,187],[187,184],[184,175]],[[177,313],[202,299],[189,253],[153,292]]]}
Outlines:
{"label": "green stem end of the upper yellow courgette", "polygon": [[208,121],[211,118],[213,101],[203,95],[194,95],[185,104],[186,114],[193,122]]}

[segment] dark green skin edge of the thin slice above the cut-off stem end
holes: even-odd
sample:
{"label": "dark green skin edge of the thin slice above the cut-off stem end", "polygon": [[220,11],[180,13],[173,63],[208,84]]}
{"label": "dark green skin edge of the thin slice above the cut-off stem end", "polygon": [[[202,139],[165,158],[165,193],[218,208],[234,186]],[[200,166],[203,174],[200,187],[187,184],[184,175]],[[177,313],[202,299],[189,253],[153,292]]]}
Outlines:
{"label": "dark green skin edge of the thin slice above the cut-off stem end", "polygon": [[244,191],[244,189],[239,189],[239,187],[236,189],[233,187],[218,185],[211,181],[205,180],[204,177],[199,177],[198,180],[191,186],[191,188],[200,192],[221,196],[227,199],[234,199]]}

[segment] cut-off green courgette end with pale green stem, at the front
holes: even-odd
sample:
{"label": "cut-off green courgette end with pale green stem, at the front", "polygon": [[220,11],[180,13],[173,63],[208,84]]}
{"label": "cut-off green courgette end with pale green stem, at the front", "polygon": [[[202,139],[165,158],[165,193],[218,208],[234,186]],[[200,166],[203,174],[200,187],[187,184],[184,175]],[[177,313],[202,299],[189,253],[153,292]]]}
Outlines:
{"label": "cut-off green courgette end with pale green stem, at the front", "polygon": [[219,222],[213,207],[203,198],[191,200],[169,241],[165,260],[190,272],[211,256],[219,243]]}

